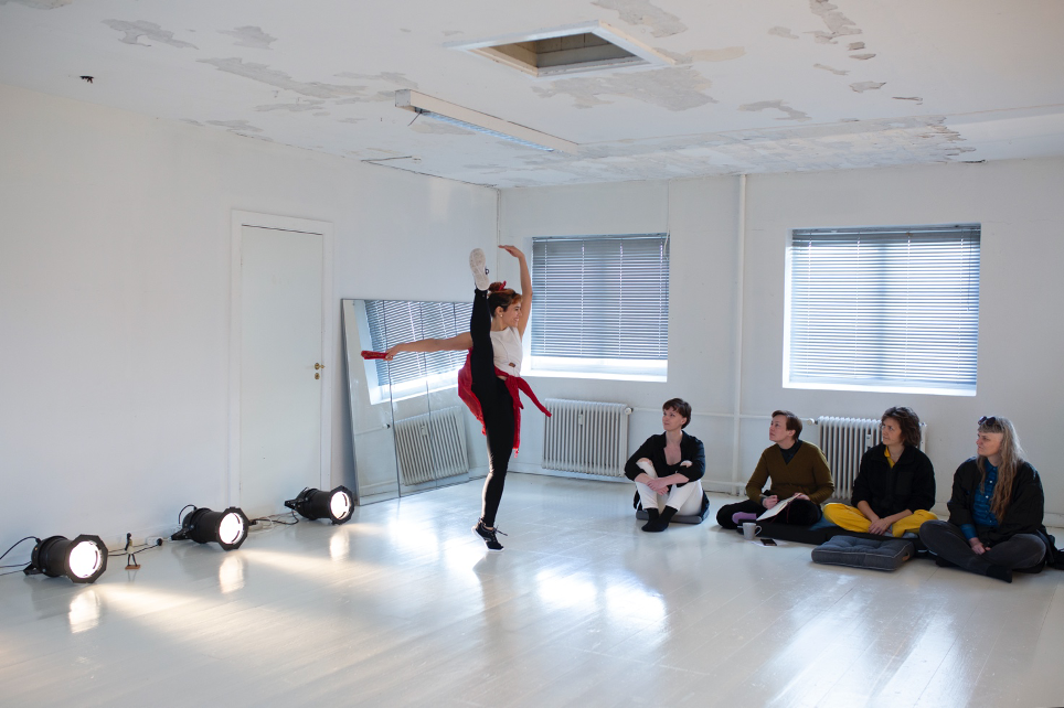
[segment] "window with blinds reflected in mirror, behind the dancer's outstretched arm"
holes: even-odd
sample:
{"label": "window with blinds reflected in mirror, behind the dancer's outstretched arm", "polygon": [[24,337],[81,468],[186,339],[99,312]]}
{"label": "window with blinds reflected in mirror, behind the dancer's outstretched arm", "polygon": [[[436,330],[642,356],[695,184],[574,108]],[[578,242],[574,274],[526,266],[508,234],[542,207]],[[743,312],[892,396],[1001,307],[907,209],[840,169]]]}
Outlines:
{"label": "window with blinds reflected in mirror, behind the dancer's outstretched arm", "polygon": [[[402,342],[447,339],[469,331],[472,303],[407,302],[366,300],[365,314],[372,348],[384,352]],[[457,372],[466,363],[466,352],[400,354],[391,364],[377,360],[377,380],[392,384],[418,380],[436,374]],[[391,378],[389,377],[391,371]]]}

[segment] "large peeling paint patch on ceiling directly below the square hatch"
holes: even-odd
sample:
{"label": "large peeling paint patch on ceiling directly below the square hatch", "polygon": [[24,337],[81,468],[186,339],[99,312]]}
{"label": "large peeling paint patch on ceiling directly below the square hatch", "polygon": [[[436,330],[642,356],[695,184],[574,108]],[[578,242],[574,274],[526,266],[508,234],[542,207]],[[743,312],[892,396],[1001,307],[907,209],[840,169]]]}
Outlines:
{"label": "large peeling paint patch on ceiling directly below the square hatch", "polygon": [[532,90],[541,98],[571,96],[576,108],[606,106],[615,101],[606,100],[602,96],[614,96],[631,98],[668,110],[689,110],[716,103],[703,93],[711,86],[710,79],[692,68],[682,67],[615,76],[563,78],[551,82],[550,88],[533,86]]}

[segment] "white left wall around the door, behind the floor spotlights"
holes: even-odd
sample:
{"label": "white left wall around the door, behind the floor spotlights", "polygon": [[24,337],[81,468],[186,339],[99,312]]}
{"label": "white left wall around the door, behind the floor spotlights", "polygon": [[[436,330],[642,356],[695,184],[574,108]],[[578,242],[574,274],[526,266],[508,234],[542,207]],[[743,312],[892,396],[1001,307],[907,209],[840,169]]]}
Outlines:
{"label": "white left wall around the door, behind the floor spotlights", "polygon": [[0,540],[226,501],[233,210],[333,224],[337,483],[339,300],[466,299],[496,239],[489,189],[4,86],[0,125]]}

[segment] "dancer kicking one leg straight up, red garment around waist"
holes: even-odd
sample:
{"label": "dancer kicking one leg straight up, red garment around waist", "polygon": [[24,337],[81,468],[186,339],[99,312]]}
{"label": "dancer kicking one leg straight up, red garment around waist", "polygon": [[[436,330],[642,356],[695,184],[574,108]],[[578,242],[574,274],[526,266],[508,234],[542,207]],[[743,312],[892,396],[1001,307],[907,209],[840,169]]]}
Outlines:
{"label": "dancer kicking one leg straight up, red garment around waist", "polygon": [[[441,352],[469,350],[466,365],[458,372],[458,395],[483,426],[488,438],[488,478],[483,485],[480,518],[474,533],[488,550],[502,550],[497,534],[496,514],[502,501],[510,454],[520,446],[521,408],[519,391],[524,391],[540,410],[550,416],[521,378],[521,337],[532,314],[532,276],[529,264],[515,246],[499,246],[518,259],[521,290],[514,292],[506,282],[488,280],[485,254],[475,248],[469,254],[476,291],[469,332],[445,340],[419,340],[396,344],[385,354],[392,361],[401,352]],[[523,293],[523,294],[522,294]],[[506,536],[506,534],[502,534]]]}

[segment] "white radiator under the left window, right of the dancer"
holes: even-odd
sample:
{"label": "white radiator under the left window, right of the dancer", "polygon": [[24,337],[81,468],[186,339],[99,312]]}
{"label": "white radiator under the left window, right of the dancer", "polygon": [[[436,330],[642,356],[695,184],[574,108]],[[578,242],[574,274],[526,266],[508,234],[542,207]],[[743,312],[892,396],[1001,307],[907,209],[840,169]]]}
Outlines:
{"label": "white radiator under the left window, right of the dancer", "polygon": [[563,472],[623,476],[628,461],[625,404],[551,398],[543,426],[543,466]]}

